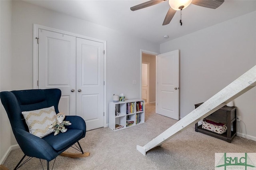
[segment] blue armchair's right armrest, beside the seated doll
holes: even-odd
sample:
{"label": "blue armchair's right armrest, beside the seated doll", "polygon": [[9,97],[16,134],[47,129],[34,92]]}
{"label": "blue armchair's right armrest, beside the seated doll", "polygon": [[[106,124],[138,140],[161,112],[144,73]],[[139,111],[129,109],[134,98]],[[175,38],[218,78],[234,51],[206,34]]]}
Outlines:
{"label": "blue armchair's right armrest, beside the seated doll", "polygon": [[72,125],[65,126],[66,128],[70,129],[80,129],[84,131],[84,135],[86,133],[86,123],[84,119],[80,116],[66,116],[65,121],[70,121]]}

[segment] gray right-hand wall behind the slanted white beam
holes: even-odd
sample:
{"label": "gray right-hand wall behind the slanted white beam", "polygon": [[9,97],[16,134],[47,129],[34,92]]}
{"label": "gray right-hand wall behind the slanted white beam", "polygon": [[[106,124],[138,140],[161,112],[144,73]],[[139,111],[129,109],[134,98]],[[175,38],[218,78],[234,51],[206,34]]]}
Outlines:
{"label": "gray right-hand wall behind the slanted white beam", "polygon": [[[256,65],[256,12],[160,45],[160,53],[180,49],[180,117]],[[234,100],[247,134],[256,140],[256,88]],[[238,132],[246,133],[240,123]]]}

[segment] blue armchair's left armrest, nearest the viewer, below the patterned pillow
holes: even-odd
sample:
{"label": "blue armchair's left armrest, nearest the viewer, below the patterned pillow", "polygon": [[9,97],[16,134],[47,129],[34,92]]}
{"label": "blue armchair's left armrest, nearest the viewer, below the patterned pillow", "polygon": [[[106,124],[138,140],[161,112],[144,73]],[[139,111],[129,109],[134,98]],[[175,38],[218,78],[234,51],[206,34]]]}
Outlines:
{"label": "blue armchair's left armrest, nearest the viewer, below the patterned pillow", "polygon": [[21,128],[15,129],[16,140],[26,156],[52,160],[58,156],[57,152],[42,138],[35,136]]}

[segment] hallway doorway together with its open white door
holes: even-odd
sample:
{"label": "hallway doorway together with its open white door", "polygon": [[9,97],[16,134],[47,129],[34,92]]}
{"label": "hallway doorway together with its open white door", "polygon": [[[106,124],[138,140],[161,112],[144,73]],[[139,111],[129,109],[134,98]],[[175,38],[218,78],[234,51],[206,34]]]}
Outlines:
{"label": "hallway doorway together with its open white door", "polygon": [[145,113],[148,107],[152,110],[151,105],[154,104],[154,113],[179,120],[179,60],[179,50],[162,54],[141,50],[141,99],[145,95],[144,84],[142,84],[142,79],[144,79],[142,78],[142,64],[149,63],[147,75],[149,83],[146,93],[148,97],[143,97],[147,100]]}

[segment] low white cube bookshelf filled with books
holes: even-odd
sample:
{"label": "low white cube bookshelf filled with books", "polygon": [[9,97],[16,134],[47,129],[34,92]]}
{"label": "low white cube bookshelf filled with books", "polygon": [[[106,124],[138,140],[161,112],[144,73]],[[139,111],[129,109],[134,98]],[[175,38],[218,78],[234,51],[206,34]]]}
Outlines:
{"label": "low white cube bookshelf filled with books", "polygon": [[[144,123],[144,103],[142,99],[131,99],[116,103],[109,102],[108,126],[116,131]],[[116,125],[119,125],[121,128],[116,128]]]}

